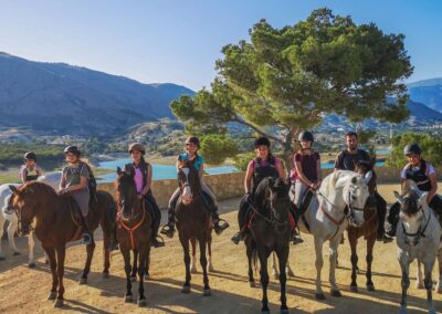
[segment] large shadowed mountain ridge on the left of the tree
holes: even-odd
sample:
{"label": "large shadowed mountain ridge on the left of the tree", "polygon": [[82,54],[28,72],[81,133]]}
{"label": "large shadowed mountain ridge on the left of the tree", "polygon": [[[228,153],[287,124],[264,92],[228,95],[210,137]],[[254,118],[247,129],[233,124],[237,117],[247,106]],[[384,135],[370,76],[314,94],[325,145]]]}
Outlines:
{"label": "large shadowed mountain ridge on the left of the tree", "polygon": [[65,63],[0,53],[0,127],[40,133],[112,134],[173,117],[169,103],[194,92],[176,84],[143,84]]}

